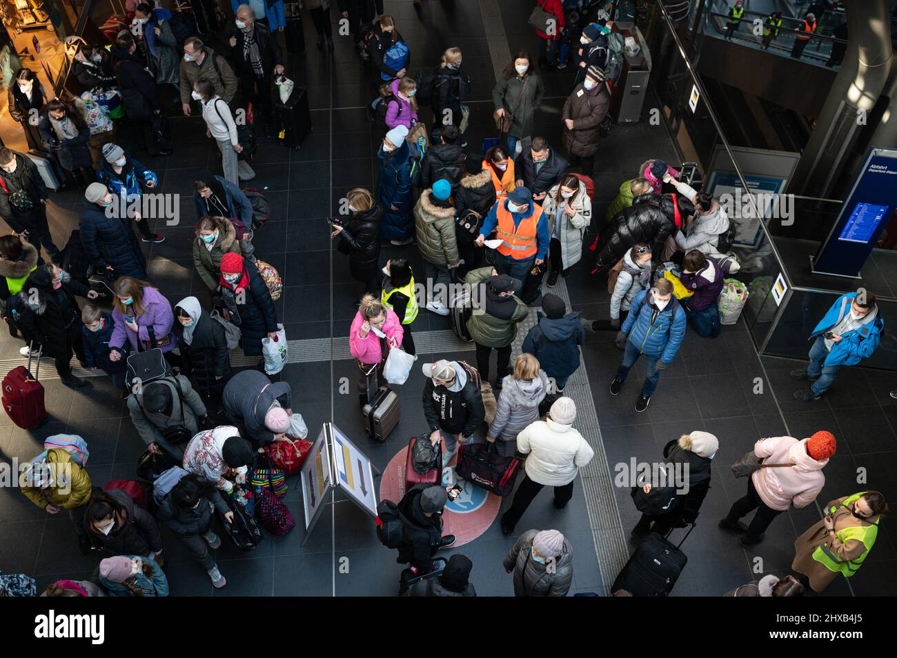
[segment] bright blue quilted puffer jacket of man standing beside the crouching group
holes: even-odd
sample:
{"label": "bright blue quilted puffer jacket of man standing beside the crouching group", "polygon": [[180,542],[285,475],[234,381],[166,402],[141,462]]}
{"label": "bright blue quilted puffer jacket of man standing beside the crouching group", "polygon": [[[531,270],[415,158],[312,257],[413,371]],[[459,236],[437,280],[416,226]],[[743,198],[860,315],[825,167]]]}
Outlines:
{"label": "bright blue quilted puffer jacket of man standing beside the crouching group", "polygon": [[685,311],[674,297],[651,322],[657,307],[653,295],[649,298],[650,294],[650,290],[642,290],[635,296],[621,331],[629,334],[630,342],[643,354],[659,356],[664,363],[672,363],[685,336]]}

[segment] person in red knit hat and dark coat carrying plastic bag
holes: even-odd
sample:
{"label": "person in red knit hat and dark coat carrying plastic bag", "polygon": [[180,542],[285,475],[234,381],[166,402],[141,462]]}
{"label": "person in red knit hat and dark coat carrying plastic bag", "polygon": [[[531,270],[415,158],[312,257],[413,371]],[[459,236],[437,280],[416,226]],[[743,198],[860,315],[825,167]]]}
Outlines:
{"label": "person in red knit hat and dark coat carrying plastic bag", "polygon": [[[240,346],[248,357],[262,355],[262,339],[277,335],[277,312],[271,291],[255,264],[231,252],[221,261],[222,277],[218,280],[222,305],[239,326]],[[238,299],[240,299],[238,303]],[[264,366],[265,359],[259,361]]]}

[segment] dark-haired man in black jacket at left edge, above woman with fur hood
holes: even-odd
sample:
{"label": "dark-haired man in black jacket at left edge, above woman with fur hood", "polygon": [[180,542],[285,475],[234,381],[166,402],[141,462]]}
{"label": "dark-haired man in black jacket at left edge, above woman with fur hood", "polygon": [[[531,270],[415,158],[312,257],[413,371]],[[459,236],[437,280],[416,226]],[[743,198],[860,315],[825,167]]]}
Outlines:
{"label": "dark-haired man in black jacket at left edge, above woman with fur hood", "polygon": [[49,193],[37,166],[21,153],[0,148],[0,217],[16,233],[28,233],[28,241],[38,250],[47,249],[50,257],[59,253],[53,244],[47,223]]}

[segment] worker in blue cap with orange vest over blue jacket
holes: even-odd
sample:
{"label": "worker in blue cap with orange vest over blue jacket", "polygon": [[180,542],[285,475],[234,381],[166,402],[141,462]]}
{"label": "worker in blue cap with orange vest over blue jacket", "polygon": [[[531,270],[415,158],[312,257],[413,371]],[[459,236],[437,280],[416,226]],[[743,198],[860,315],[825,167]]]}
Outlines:
{"label": "worker in blue cap with orange vest over blue jacket", "polygon": [[495,238],[501,239],[495,269],[500,274],[526,282],[533,264],[544,263],[549,242],[548,220],[542,209],[533,203],[533,195],[527,187],[516,187],[507,198],[492,206],[475,244],[483,247],[492,231],[495,231]]}

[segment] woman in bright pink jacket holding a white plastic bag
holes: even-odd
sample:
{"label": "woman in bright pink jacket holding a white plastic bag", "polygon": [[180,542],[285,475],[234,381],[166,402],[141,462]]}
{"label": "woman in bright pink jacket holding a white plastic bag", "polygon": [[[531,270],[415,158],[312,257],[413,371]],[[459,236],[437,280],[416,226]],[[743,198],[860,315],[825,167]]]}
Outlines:
{"label": "woman in bright pink jacket holding a white plastic bag", "polygon": [[372,295],[361,298],[361,306],[349,329],[349,350],[358,364],[358,393],[363,407],[368,402],[368,373],[376,368],[378,380],[390,347],[401,347],[405,330],[392,309]]}

